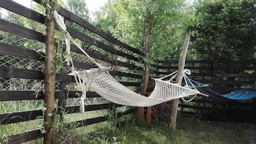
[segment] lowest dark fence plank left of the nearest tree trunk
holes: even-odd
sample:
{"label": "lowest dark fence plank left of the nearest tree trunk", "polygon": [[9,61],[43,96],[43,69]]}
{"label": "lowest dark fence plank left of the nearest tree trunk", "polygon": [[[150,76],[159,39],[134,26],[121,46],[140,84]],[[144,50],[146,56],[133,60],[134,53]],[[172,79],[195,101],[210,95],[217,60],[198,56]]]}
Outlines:
{"label": "lowest dark fence plank left of the nearest tree trunk", "polygon": [[18,133],[15,135],[8,136],[8,143],[20,144],[20,143],[29,142],[31,140],[36,140],[37,138],[42,138],[42,137],[43,135],[41,133],[41,130],[34,129],[34,130],[29,130],[25,133]]}

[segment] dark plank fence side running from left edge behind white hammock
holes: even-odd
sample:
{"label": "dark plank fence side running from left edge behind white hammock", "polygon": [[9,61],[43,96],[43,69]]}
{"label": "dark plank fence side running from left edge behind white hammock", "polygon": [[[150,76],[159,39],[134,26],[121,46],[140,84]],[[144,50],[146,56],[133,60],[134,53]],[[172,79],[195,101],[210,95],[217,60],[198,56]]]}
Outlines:
{"label": "dark plank fence side running from left edge behind white hammock", "polygon": [[[39,0],[34,0],[34,2],[38,4],[40,3]],[[0,6],[2,9],[11,11],[24,19],[30,19],[32,24],[37,24],[37,28],[45,27],[44,21],[46,17],[44,14],[40,14],[37,11],[9,0],[0,1]],[[70,11],[63,9],[62,7],[60,7],[58,12],[65,18],[67,31],[70,32],[70,35],[75,38],[77,42],[82,44],[85,52],[90,54],[90,56],[96,59],[98,62],[115,67],[116,71],[112,72],[111,74],[118,77],[118,80],[120,80],[123,85],[128,87],[139,87],[141,85],[142,75],[138,75],[137,73],[143,74],[143,65],[140,65],[140,59],[143,57],[143,52],[140,52],[137,49],[118,41],[118,39],[111,37],[109,34],[103,32],[97,27],[94,27],[92,24],[81,19],[79,16],[70,13]],[[78,26],[80,29],[82,29],[82,31],[78,31],[72,26]],[[34,42],[34,44],[44,45],[44,32],[29,29],[29,27],[15,24],[14,22],[6,19],[0,19],[0,31],[1,40],[8,39],[9,37],[18,38],[16,40],[24,39],[24,44],[22,45],[19,44],[21,41],[14,42],[14,40],[10,40],[12,41],[10,43],[0,41],[1,105],[13,105],[14,102],[23,101],[39,102],[39,105],[41,105],[42,100],[44,99],[44,92],[42,87],[39,90],[35,90],[34,86],[37,84],[42,84],[44,80],[44,75],[42,72],[44,64],[44,52],[42,52],[42,50],[44,49],[30,49],[26,44],[31,44],[31,42]],[[80,57],[74,61],[76,68],[90,69],[91,67],[95,67],[95,65],[87,63],[85,62],[85,59],[81,58],[84,56],[82,56],[82,53],[74,45],[71,46],[71,52],[73,55]],[[15,63],[12,62],[14,59],[16,59],[17,64],[13,64]],[[30,64],[29,66],[26,65],[28,63]],[[26,66],[21,67],[22,64],[25,64]],[[40,66],[35,66],[38,64]],[[79,112],[78,105],[65,104],[67,100],[79,97],[77,93],[80,93],[80,91],[74,86],[75,81],[73,77],[67,75],[67,73],[67,69],[62,68],[57,73],[56,77],[57,86],[55,87],[55,99],[57,100],[56,108],[59,109],[58,112],[60,115],[62,113],[72,115],[72,113]],[[26,82],[26,85],[23,87],[23,84],[20,82]],[[15,85],[19,88],[15,88]],[[96,101],[96,104],[93,103],[92,105],[86,105],[86,112],[94,110],[112,110],[114,107],[112,103],[101,100],[100,96],[95,92],[88,92],[87,99],[89,99],[89,101]],[[101,101],[104,102],[102,103]],[[122,105],[115,105],[115,107],[122,107]],[[130,108],[124,112],[120,111],[116,116],[121,117],[122,115],[129,115],[132,112],[136,112],[136,109]],[[14,127],[16,123],[24,123],[24,125],[27,125],[25,122],[30,123],[33,120],[38,120],[42,115],[43,110],[40,109],[9,112],[0,111],[0,127],[4,127],[6,125]],[[108,120],[108,114],[82,120],[64,120],[64,122],[68,125],[82,127],[85,125],[100,123],[106,120]],[[0,128],[0,131],[2,130],[0,132],[2,138],[5,134],[3,129],[4,128]],[[7,135],[7,138],[9,139],[8,143],[24,143],[37,138],[42,138],[41,132],[42,131],[37,128],[37,125],[35,125],[34,129]]]}

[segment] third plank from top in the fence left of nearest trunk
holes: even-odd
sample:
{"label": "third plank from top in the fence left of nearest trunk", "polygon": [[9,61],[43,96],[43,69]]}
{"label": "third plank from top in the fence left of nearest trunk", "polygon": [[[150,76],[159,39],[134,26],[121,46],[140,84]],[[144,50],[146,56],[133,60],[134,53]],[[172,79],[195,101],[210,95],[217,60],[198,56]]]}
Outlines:
{"label": "third plank from top in the fence left of nearest trunk", "polygon": [[4,44],[0,42],[0,54],[11,55],[15,57],[23,57],[27,59],[34,59],[44,61],[44,54],[39,54],[31,49],[24,49],[22,47],[16,47],[9,44]]}

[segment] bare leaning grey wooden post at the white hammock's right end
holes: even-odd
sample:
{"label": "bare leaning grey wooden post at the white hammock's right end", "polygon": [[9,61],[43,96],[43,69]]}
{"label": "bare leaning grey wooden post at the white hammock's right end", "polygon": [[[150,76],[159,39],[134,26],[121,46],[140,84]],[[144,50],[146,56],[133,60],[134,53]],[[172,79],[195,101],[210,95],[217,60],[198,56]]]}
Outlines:
{"label": "bare leaning grey wooden post at the white hammock's right end", "polygon": [[[179,80],[183,77],[183,71],[185,67],[185,61],[186,61],[186,52],[189,47],[189,39],[190,35],[186,34],[183,47],[181,49],[181,54],[179,57],[179,68],[178,68],[178,74],[176,77],[176,82],[179,82]],[[179,84],[181,85],[181,83]],[[178,111],[178,105],[179,105],[179,99],[175,99],[171,101],[172,109],[171,109],[171,123],[170,128],[175,130],[176,129],[176,119],[177,119],[177,111]]]}

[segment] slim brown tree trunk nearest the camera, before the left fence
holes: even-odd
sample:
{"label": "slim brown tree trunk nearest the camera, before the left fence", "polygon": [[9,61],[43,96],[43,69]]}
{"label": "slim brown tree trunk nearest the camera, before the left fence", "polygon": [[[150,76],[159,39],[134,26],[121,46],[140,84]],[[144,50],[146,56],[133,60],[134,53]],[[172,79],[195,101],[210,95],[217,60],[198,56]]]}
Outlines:
{"label": "slim brown tree trunk nearest the camera, before the left fence", "polygon": [[[44,144],[53,143],[53,135],[55,128],[53,127],[55,120],[54,111],[54,86],[55,86],[55,70],[56,64],[54,62],[54,18],[52,11],[56,8],[57,2],[52,0],[46,1],[46,49],[45,49],[45,62],[44,62],[44,105],[46,110],[44,112]],[[52,8],[49,8],[52,6]]]}

